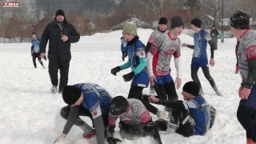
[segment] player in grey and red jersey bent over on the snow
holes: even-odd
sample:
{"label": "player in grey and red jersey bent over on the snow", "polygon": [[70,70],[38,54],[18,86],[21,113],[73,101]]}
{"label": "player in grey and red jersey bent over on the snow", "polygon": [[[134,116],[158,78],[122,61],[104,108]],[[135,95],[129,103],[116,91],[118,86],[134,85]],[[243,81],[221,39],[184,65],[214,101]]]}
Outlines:
{"label": "player in grey and red jersey bent over on the snow", "polygon": [[134,139],[150,135],[156,142],[162,144],[158,129],[140,100],[126,99],[122,96],[111,100],[109,126],[107,126],[107,142],[110,144],[121,142],[120,139],[114,138],[115,122],[118,118],[120,118],[119,128],[122,138]]}

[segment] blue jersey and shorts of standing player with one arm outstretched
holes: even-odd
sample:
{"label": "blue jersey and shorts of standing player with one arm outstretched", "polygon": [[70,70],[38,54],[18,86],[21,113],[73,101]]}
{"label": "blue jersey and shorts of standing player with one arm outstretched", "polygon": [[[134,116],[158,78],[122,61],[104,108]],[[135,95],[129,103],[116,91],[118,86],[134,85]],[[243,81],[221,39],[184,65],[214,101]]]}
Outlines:
{"label": "blue jersey and shorts of standing player with one arm outstretched", "polygon": [[204,67],[208,65],[206,53],[207,42],[210,41],[210,34],[206,30],[200,30],[194,34],[194,53],[192,67]]}

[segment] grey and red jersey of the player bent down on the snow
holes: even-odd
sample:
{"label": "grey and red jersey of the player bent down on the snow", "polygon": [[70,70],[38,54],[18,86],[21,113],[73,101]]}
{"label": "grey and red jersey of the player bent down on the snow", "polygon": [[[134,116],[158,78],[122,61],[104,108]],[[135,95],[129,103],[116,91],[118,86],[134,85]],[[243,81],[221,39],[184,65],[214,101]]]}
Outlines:
{"label": "grey and red jersey of the player bent down on the snow", "polygon": [[109,113],[110,126],[115,126],[115,122],[118,118],[120,118],[120,121],[125,122],[131,126],[138,126],[151,121],[150,112],[146,110],[146,107],[140,100],[130,98],[127,99],[127,101],[129,102],[129,109],[126,114],[123,114],[119,117]]}

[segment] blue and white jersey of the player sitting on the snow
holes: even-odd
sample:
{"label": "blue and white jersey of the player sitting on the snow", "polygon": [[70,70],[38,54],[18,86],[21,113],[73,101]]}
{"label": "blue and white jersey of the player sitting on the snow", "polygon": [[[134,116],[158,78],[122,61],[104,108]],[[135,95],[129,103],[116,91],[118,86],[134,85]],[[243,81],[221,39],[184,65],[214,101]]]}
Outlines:
{"label": "blue and white jersey of the player sitting on the snow", "polygon": [[184,102],[186,109],[190,110],[190,115],[194,119],[194,135],[204,135],[210,126],[209,104],[205,98],[198,95],[188,102]]}

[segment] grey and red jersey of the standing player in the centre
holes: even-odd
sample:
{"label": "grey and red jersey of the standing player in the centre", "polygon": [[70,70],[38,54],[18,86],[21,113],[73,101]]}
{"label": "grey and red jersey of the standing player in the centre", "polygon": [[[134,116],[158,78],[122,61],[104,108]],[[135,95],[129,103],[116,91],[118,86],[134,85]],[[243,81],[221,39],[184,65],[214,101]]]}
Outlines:
{"label": "grey and red jersey of the standing player in the centre", "polygon": [[172,39],[169,33],[158,34],[154,44],[150,48],[150,53],[154,55],[152,69],[155,76],[166,75],[170,73],[170,60],[179,58],[181,55],[180,38]]}

